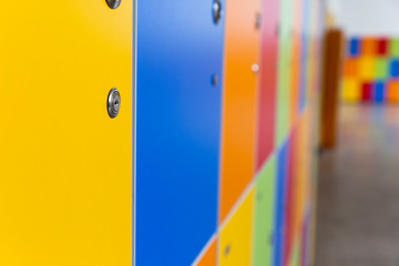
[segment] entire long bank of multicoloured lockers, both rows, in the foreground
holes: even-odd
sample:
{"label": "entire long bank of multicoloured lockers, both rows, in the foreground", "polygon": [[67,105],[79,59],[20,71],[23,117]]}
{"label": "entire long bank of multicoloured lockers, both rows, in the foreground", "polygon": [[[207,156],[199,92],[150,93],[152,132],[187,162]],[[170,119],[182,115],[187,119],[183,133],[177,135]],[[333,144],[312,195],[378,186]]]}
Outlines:
{"label": "entire long bank of multicoloured lockers, both rows, in the foreground", "polygon": [[314,2],[4,2],[0,264],[299,262]]}

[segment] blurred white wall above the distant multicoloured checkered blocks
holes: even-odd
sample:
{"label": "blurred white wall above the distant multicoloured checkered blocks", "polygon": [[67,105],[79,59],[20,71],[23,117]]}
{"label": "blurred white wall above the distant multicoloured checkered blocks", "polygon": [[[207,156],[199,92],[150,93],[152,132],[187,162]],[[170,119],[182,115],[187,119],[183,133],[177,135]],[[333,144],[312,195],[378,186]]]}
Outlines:
{"label": "blurred white wall above the distant multicoloured checkered blocks", "polygon": [[399,37],[399,0],[327,0],[348,37]]}

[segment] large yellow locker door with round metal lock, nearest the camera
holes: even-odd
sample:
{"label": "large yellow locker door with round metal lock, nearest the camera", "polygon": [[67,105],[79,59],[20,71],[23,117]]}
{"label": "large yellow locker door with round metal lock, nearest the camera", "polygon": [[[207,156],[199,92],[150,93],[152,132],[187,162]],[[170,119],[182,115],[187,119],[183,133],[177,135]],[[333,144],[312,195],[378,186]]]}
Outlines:
{"label": "large yellow locker door with round metal lock, nearest the camera", "polygon": [[0,265],[131,265],[132,10],[1,3]]}

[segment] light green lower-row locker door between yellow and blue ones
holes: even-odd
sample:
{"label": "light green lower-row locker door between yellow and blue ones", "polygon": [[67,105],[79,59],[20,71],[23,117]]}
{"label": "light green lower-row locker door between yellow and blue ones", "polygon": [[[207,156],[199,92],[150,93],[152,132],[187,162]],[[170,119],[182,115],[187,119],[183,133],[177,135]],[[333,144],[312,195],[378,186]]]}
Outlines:
{"label": "light green lower-row locker door between yellow and blue ones", "polygon": [[272,156],[256,181],[254,265],[273,264],[276,160]]}

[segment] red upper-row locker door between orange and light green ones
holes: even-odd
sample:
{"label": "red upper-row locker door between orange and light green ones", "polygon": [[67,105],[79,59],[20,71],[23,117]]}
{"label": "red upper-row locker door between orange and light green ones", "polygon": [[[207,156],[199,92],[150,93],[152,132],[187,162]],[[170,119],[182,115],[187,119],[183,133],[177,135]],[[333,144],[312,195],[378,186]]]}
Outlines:
{"label": "red upper-row locker door between orange and light green ones", "polygon": [[262,10],[257,171],[275,147],[279,1],[265,0]]}

